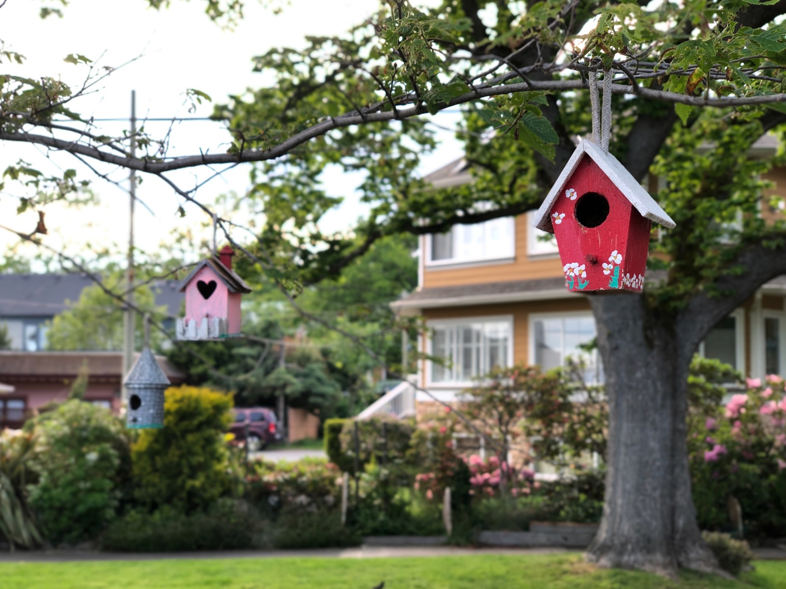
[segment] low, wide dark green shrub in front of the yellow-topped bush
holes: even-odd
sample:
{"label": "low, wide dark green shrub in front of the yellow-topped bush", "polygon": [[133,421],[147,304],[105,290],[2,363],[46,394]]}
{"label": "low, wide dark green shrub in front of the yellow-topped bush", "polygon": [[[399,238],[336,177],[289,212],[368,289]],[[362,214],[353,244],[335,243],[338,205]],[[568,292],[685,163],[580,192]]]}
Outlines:
{"label": "low, wide dark green shrub in front of the yellow-topped bush", "polygon": [[241,550],[255,547],[261,528],[253,510],[231,500],[188,515],[170,507],[152,514],[137,510],[109,525],[101,536],[101,548],[114,552]]}

